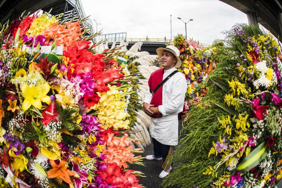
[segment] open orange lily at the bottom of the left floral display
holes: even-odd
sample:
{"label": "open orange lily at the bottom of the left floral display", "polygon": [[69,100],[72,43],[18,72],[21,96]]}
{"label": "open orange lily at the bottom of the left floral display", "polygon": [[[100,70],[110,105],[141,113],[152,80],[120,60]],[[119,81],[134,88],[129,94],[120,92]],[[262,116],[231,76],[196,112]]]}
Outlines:
{"label": "open orange lily at the bottom of the left floral display", "polygon": [[57,165],[54,160],[50,160],[50,164],[53,169],[47,172],[49,178],[57,178],[59,183],[64,180],[66,183],[72,184],[70,176],[74,176],[76,173],[67,169],[68,165],[64,160],[62,160],[59,165]]}

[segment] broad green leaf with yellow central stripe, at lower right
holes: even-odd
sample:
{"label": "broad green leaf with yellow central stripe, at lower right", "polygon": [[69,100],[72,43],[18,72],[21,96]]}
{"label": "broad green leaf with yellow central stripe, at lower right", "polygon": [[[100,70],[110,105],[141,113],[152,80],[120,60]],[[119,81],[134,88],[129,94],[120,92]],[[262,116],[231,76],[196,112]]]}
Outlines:
{"label": "broad green leaf with yellow central stripe, at lower right", "polygon": [[247,157],[245,157],[235,170],[239,172],[247,172],[253,167],[257,166],[268,155],[269,148],[267,148],[266,142],[257,146]]}

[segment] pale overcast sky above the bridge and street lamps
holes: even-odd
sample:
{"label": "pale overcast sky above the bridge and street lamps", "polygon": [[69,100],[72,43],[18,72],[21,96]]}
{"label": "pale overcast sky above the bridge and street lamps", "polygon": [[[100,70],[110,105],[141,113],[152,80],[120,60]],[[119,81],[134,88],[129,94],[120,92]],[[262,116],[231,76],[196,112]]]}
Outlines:
{"label": "pale overcast sky above the bridge and street lamps", "polygon": [[222,31],[235,23],[247,23],[247,15],[219,0],[81,0],[86,15],[91,15],[94,29],[103,34],[127,32],[127,38],[170,38],[170,14],[172,38],[177,33],[201,43],[211,44],[223,39]]}

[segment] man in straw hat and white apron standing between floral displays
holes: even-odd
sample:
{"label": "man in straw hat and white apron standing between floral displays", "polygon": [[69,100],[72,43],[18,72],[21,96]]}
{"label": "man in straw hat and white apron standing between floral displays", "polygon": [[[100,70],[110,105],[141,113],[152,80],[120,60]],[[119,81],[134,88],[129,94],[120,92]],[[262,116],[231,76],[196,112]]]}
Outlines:
{"label": "man in straw hat and white apron standing between floral displays", "polygon": [[[171,160],[167,156],[172,155],[174,146],[178,144],[178,114],[183,111],[187,82],[176,69],[181,66],[181,61],[175,46],[158,48],[157,54],[163,68],[151,74],[148,81],[150,90],[145,95],[143,107],[145,113],[152,117],[150,134],[154,145],[154,155],[147,155],[146,159],[163,160],[164,170],[159,177],[164,178],[171,170]],[[168,76],[170,79],[155,90]]]}

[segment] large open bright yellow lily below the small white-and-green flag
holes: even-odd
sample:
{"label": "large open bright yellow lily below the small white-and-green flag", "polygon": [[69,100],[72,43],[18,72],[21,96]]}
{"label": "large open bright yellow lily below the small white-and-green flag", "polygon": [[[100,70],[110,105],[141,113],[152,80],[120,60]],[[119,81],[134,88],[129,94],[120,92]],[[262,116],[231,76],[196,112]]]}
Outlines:
{"label": "large open bright yellow lily below the small white-and-green flag", "polygon": [[50,85],[48,83],[40,84],[38,86],[29,87],[29,85],[24,84],[22,86],[22,92],[24,95],[23,110],[26,111],[31,105],[35,108],[42,108],[41,101],[47,104],[51,103],[50,96],[47,93],[50,90]]}

